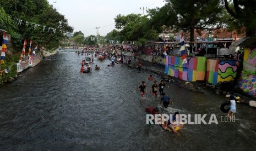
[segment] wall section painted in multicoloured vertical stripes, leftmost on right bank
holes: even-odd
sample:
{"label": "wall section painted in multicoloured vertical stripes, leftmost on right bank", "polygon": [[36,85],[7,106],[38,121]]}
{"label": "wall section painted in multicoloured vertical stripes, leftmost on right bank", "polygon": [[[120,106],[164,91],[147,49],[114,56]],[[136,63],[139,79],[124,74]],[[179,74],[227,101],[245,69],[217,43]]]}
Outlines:
{"label": "wall section painted in multicoloured vertical stripes, leftmost on right bank", "polygon": [[181,56],[166,56],[165,73],[182,80],[195,82],[205,79],[205,57],[187,58],[182,64]]}

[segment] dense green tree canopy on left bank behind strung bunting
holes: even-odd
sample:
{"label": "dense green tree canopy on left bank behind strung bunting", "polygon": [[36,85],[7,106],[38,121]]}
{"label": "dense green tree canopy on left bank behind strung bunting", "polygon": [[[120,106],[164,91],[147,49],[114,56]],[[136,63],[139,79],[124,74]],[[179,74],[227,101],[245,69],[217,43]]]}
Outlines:
{"label": "dense green tree canopy on left bank behind strung bunting", "polygon": [[[63,33],[73,32],[73,27],[68,25],[64,15],[59,14],[47,0],[0,0],[0,3],[17,26],[17,28],[7,27],[6,21],[3,24],[5,26],[3,28],[12,36],[15,50],[22,47],[24,38],[32,39],[34,45],[39,44],[48,49],[56,49],[61,41],[67,38],[67,34]],[[43,26],[46,26],[44,31]]]}

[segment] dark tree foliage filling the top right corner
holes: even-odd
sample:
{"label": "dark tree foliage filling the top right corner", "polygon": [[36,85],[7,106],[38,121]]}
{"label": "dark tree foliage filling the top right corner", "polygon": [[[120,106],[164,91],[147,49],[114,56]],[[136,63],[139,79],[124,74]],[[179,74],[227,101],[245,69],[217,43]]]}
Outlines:
{"label": "dark tree foliage filling the top right corner", "polygon": [[232,27],[241,29],[246,27],[246,36],[255,36],[256,32],[256,1],[255,0],[233,0],[228,3],[224,0],[227,12],[233,17]]}

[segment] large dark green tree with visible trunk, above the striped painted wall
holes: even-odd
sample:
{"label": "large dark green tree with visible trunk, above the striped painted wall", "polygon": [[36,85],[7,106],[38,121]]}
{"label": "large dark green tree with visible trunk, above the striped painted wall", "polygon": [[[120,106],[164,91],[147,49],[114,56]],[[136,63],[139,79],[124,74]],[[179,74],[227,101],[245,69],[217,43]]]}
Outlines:
{"label": "large dark green tree with visible trunk, above the striped painted wall", "polygon": [[164,7],[150,11],[152,22],[159,27],[166,25],[176,30],[189,31],[190,42],[194,41],[194,29],[213,29],[222,24],[223,9],[220,0],[167,0],[167,2]]}

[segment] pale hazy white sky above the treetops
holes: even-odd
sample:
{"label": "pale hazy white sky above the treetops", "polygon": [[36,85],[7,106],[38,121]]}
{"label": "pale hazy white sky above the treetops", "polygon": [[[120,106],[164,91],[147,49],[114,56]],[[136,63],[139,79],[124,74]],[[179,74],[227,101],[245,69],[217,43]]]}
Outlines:
{"label": "pale hazy white sky above the treetops", "polygon": [[[118,15],[143,14],[142,8],[152,9],[164,6],[164,0],[48,0],[57,11],[68,19],[74,32],[84,36],[106,36],[115,29],[114,18]],[[144,10],[146,14],[146,10]]]}

